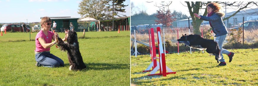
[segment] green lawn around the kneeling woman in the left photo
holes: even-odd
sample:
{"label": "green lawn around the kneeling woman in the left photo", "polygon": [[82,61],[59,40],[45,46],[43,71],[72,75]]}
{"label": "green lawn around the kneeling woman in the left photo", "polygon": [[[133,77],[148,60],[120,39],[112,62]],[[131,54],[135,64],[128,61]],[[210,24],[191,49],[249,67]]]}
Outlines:
{"label": "green lawn around the kneeling woman in the left photo", "polygon": [[[0,42],[0,85],[125,86],[130,85],[130,32],[86,32],[78,39],[86,70],[69,71],[67,52],[55,46],[50,53],[60,57],[64,67],[35,66],[35,41],[16,41],[24,33],[7,33],[12,42]],[[32,33],[35,39],[37,33]],[[78,32],[78,37],[82,32]],[[63,38],[64,34],[59,33]],[[4,35],[6,36],[6,35]],[[12,39],[15,38],[15,39]],[[29,40],[29,38],[26,38]]]}

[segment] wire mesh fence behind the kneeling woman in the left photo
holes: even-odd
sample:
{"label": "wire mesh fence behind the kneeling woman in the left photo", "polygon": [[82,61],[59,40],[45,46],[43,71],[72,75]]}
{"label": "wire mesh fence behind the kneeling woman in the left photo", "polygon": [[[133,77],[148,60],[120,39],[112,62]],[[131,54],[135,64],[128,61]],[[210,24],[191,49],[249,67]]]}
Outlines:
{"label": "wire mesh fence behind the kneeling woman in the left photo", "polygon": [[[52,21],[53,23],[53,21]],[[97,26],[97,22],[85,22],[85,21],[79,21],[79,22],[72,22],[73,23],[73,30],[76,32],[89,32],[89,31],[120,31],[122,30],[129,30],[129,19],[114,19],[112,20],[107,20],[107,21],[100,21]],[[22,22],[20,23],[8,23],[8,24],[17,24],[13,28],[19,28],[18,31],[14,32],[2,32],[3,36],[0,36],[0,42],[8,42],[8,41],[23,41],[23,40],[35,40],[35,36],[37,32],[41,30],[41,25],[40,22],[36,23],[25,23],[28,25],[28,28],[30,29],[30,32],[26,34],[24,33],[22,28]],[[94,24],[92,28],[92,24]],[[103,24],[103,27],[101,25]],[[114,27],[112,27],[114,25]],[[34,27],[35,26],[35,27]],[[50,31],[55,30],[55,32],[59,34],[65,33],[65,31],[70,30],[70,22],[56,22],[56,28],[53,29],[53,24],[51,25]],[[6,33],[6,34],[5,34]],[[101,33],[100,33],[101,34]]]}

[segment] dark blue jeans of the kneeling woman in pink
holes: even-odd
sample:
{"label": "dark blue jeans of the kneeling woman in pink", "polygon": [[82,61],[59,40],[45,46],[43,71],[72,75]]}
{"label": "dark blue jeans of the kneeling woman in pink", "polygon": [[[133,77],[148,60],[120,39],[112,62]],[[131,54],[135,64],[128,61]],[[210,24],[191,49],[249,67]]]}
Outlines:
{"label": "dark blue jeans of the kneeling woman in pink", "polygon": [[60,67],[64,66],[64,62],[62,59],[56,57],[50,52],[42,52],[35,54],[35,59],[40,65],[43,67]]}

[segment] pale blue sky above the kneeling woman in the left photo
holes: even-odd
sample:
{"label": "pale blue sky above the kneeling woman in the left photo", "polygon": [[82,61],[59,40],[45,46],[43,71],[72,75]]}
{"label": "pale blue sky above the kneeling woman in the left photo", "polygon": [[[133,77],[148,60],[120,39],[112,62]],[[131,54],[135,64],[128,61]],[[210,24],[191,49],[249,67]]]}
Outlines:
{"label": "pale blue sky above the kneeling woman in the left photo", "polygon": [[[0,23],[40,22],[40,17],[71,16],[81,18],[77,13],[82,0],[0,0]],[[127,16],[130,16],[130,0],[124,2]]]}

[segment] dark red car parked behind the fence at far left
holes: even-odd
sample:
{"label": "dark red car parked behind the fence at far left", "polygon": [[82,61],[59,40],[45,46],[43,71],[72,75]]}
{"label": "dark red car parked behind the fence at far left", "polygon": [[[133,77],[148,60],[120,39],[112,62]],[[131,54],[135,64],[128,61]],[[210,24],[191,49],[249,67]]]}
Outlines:
{"label": "dark red car parked behind the fence at far left", "polygon": [[[8,24],[7,26],[5,26],[4,31],[12,31],[12,28],[14,30],[14,32],[23,32],[23,28],[22,26],[18,25],[18,24]],[[26,27],[27,31],[30,32],[30,29],[28,27]]]}

